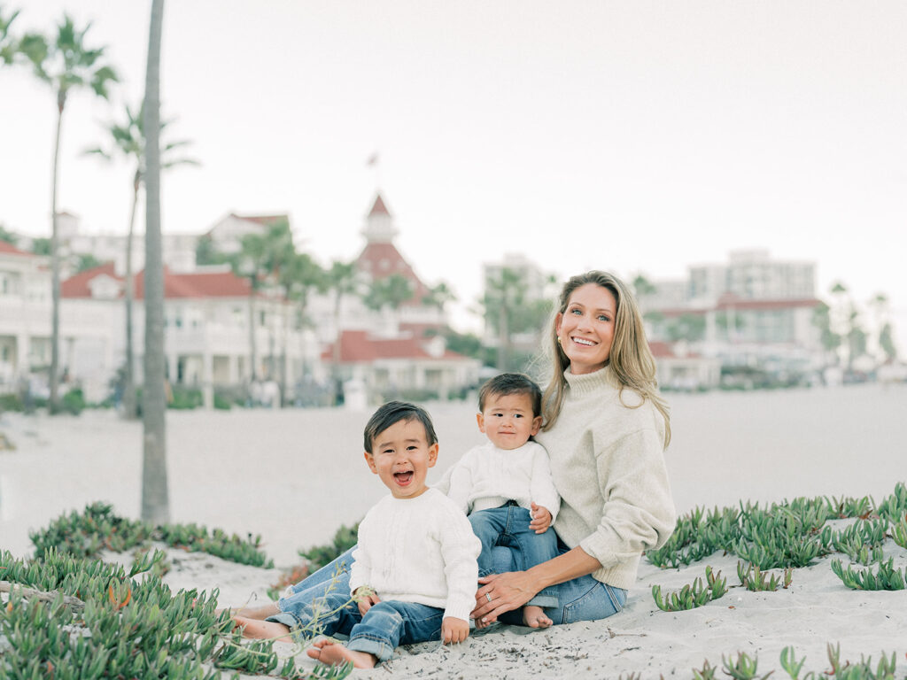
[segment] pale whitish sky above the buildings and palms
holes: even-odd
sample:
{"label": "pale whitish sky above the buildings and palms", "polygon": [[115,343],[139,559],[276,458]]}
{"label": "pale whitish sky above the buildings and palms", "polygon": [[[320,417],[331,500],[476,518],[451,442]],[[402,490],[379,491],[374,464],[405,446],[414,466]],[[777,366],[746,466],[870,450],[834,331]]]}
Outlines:
{"label": "pale whitish sky above the buildings and palms", "polygon": [[[151,2],[4,6],[17,32],[65,10],[108,46],[122,83],[69,102],[60,207],[125,233],[131,170],[80,152],[141,98]],[[904,347],[905,35],[902,0],[171,0],[163,115],[202,166],[165,176],[163,229],[287,212],[327,265],[356,257],[380,186],[461,325],[506,252],[658,279],[768,248],[816,262],[826,299],[885,293]],[[54,117],[49,88],[0,70],[7,228],[49,236]]]}

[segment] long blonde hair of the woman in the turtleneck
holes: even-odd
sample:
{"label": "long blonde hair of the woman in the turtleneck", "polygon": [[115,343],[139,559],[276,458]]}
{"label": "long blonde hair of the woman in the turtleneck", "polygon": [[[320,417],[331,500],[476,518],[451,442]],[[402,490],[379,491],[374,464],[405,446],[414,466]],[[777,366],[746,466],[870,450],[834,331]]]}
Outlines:
{"label": "long blonde hair of the woman in the turtleneck", "polygon": [[658,413],[664,417],[665,448],[668,448],[671,441],[670,410],[668,403],[658,393],[655,358],[646,340],[646,330],[642,324],[639,306],[629,288],[618,277],[603,271],[590,271],[571,277],[561,289],[559,304],[551,316],[551,333],[547,344],[547,352],[551,359],[551,380],[541,398],[544,416],[544,425],[541,429],[550,430],[557,421],[567,392],[564,371],[570,365],[570,359],[558,344],[557,317],[567,311],[573,291],[590,283],[610,290],[618,305],[608,365],[620,383],[621,392],[624,387],[629,387],[642,397],[643,402],[639,405],[649,399],[658,409]]}

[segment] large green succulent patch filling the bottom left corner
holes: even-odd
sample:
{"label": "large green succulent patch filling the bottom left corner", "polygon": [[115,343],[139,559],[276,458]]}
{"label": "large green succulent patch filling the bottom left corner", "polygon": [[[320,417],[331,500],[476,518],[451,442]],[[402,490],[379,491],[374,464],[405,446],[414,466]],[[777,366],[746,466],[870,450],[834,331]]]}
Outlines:
{"label": "large green succulent patch filling the bottom left corner", "polygon": [[[162,553],[126,573],[120,565],[49,549],[40,559],[0,555],[9,601],[0,612],[0,677],[215,680],[219,669],[277,675],[271,640],[243,640],[217,595],[172,593],[147,572]],[[300,673],[288,660],[278,676],[343,678],[352,665]],[[213,666],[213,667],[212,667]]]}

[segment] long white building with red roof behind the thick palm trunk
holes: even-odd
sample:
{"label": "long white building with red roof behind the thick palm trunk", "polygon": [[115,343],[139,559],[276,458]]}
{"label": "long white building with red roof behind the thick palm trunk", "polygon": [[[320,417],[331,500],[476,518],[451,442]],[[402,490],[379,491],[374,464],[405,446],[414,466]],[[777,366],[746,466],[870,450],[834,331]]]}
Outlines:
{"label": "long white building with red roof behind the thick palm trunk", "polygon": [[[209,404],[215,388],[249,384],[249,279],[235,276],[226,266],[194,272],[165,267],[163,284],[164,351],[171,384],[200,389]],[[64,365],[74,377],[106,390],[125,356],[124,280],[107,263],[68,278],[61,289],[63,335],[70,345]],[[143,296],[144,272],[140,272],[135,276],[132,320],[135,367],[140,375]],[[255,300],[255,376],[277,383],[282,377],[292,386],[303,374],[303,366],[317,360],[315,338],[298,327],[293,303],[259,293]],[[281,366],[286,370],[283,375]]]}

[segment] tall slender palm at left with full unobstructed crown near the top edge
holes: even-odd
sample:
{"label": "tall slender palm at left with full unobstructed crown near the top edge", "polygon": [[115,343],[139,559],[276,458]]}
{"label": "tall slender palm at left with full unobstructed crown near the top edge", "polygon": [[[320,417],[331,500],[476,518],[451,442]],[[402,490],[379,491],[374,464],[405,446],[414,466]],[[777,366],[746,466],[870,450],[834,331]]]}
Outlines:
{"label": "tall slender palm at left with full unobstructed crown near the top edge", "polygon": [[34,75],[50,85],[56,94],[57,123],[54,141],[54,173],[51,187],[51,413],[59,407],[60,370],[60,243],[57,234],[57,185],[60,169],[60,133],[63,129],[63,111],[69,93],[73,89],[90,87],[93,92],[107,99],[107,88],[117,81],[112,67],[102,63],[104,48],[91,49],[85,45],[85,34],[91,24],[82,31],[76,30],[73,19],[63,15],[63,22],[57,25],[53,40],[41,34],[25,34],[19,42],[19,50],[32,63]]}

